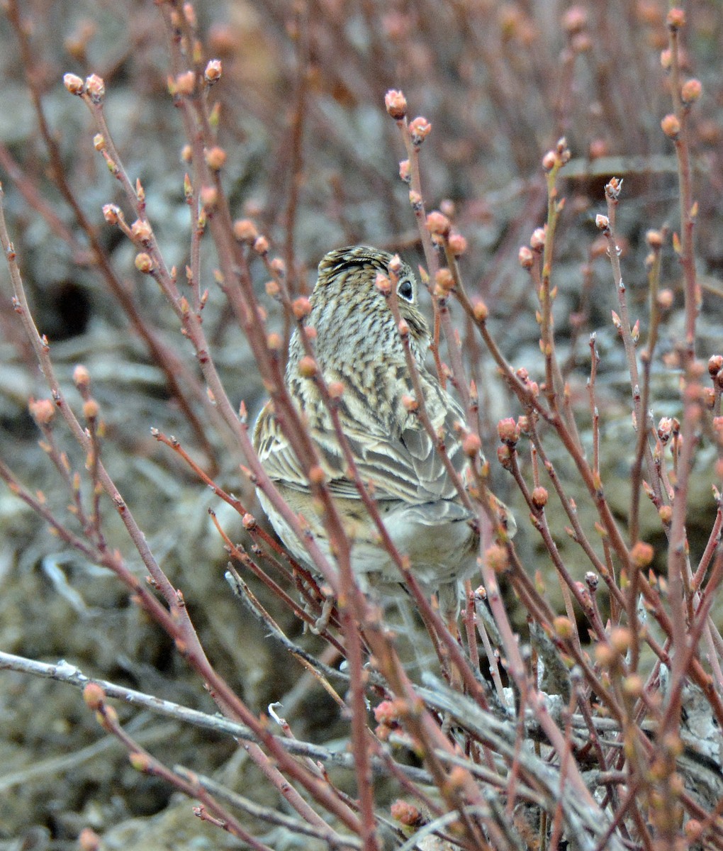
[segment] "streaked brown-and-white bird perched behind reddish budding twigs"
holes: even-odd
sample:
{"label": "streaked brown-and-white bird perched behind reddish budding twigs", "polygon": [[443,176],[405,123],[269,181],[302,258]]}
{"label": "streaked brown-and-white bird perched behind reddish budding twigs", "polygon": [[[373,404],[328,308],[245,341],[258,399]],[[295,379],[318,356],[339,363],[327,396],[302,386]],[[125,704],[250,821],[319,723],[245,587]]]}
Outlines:
{"label": "streaked brown-and-white bird perched behind reddish budding twigs", "polygon": [[[390,275],[393,259],[395,274]],[[413,380],[400,329],[384,286],[379,286],[379,280],[385,278],[396,286],[396,303],[407,323],[424,407],[435,433],[441,434],[449,462],[464,480],[470,460],[463,447],[464,411],[427,366],[430,330],[419,309],[417,280],[407,263],[367,245],[330,251],[318,266],[310,311],[303,323],[316,329],[311,340],[314,358],[327,386],[336,382],[343,388],[337,402],[341,430],[358,476],[367,485],[396,550],[408,557],[422,590],[427,595],[436,593],[440,608],[455,614],[461,583],[477,566],[479,528],[436,441],[414,410]],[[398,586],[401,573],[384,549],[379,530],[349,475],[317,381],[299,372],[305,354],[297,328],[289,342],[285,382],[308,426],[327,487],[344,520],[351,541],[351,567],[362,591]],[[276,420],[271,400],[256,420],[253,446],[287,505],[304,517],[322,552],[333,560],[322,508],[311,495],[310,483]],[[305,545],[263,490],[257,488],[257,494],[288,551],[309,564]],[[497,500],[496,504],[511,536],[514,518],[504,504]]]}

